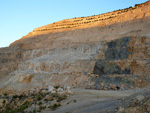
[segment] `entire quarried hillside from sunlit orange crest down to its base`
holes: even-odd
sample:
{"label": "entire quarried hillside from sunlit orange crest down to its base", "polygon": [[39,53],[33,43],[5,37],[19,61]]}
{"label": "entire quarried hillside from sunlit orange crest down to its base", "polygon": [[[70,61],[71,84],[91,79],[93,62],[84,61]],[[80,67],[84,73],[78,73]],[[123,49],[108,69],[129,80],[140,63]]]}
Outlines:
{"label": "entire quarried hillside from sunlit orange crest down to its base", "polygon": [[[52,23],[0,49],[0,88],[102,82],[146,87],[149,43],[150,2]],[[93,73],[99,77],[91,78]]]}

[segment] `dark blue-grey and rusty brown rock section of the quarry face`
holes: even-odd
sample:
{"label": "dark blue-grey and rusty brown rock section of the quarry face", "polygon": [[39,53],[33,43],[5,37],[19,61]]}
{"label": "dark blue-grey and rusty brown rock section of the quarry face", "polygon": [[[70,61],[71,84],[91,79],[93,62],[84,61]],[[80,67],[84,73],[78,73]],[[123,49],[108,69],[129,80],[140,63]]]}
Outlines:
{"label": "dark blue-grey and rusty brown rock section of the quarry face", "polygon": [[102,82],[121,86],[146,87],[150,82],[150,38],[124,37],[108,42],[105,58],[97,60],[96,86]]}

